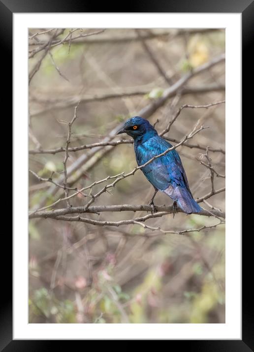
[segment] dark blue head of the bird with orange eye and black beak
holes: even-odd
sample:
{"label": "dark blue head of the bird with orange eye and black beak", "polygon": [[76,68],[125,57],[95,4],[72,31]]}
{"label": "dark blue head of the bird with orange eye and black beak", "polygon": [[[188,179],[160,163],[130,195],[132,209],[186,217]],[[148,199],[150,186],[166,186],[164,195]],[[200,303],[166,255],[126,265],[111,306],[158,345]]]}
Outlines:
{"label": "dark blue head of the bird with orange eye and black beak", "polygon": [[149,137],[158,134],[148,120],[139,116],[129,118],[123,128],[117,132],[117,134],[121,133],[127,133],[134,140],[137,137],[143,137],[145,134],[149,135]]}

